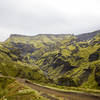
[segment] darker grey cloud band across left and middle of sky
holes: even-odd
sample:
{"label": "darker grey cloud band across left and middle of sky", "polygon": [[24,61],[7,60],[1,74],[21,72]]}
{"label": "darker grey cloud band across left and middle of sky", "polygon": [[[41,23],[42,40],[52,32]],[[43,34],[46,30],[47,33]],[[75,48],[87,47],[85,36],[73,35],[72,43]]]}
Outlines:
{"label": "darker grey cloud band across left and middle of sky", "polygon": [[[4,3],[4,2],[3,2]],[[43,7],[41,11],[33,10],[32,13],[21,12],[19,9],[12,7],[8,3],[7,5],[2,5],[0,3],[1,13],[0,13],[0,26],[23,30],[23,32],[42,32],[46,31],[48,27],[53,25],[63,24],[66,22],[66,19],[61,16],[56,11],[46,10],[47,8]],[[7,4],[7,3],[6,3]],[[3,7],[2,7],[3,6]]]}

